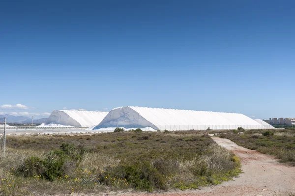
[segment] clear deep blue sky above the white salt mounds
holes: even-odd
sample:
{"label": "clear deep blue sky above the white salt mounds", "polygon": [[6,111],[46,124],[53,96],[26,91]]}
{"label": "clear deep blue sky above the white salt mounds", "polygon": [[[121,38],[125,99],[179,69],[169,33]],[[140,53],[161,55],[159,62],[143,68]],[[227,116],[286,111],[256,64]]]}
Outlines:
{"label": "clear deep blue sky above the white salt mounds", "polygon": [[294,7],[0,1],[0,114],[132,105],[295,117]]}

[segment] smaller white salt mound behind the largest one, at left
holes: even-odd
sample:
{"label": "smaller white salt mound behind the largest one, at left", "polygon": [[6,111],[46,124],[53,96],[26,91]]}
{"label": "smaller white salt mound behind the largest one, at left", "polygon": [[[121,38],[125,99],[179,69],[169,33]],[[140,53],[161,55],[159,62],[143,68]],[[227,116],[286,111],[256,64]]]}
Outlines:
{"label": "smaller white salt mound behind the largest one, at left", "polygon": [[71,126],[94,126],[99,124],[108,112],[54,110],[47,120],[47,124],[56,123]]}

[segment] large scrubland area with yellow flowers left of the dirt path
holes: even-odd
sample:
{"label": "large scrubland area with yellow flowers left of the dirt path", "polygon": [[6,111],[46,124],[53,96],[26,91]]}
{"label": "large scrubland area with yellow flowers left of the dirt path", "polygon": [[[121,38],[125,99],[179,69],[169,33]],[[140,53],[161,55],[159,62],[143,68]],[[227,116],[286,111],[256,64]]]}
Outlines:
{"label": "large scrubland area with yellow flowers left of the dirt path", "polygon": [[231,180],[238,158],[196,131],[10,136],[0,195],[198,189]]}

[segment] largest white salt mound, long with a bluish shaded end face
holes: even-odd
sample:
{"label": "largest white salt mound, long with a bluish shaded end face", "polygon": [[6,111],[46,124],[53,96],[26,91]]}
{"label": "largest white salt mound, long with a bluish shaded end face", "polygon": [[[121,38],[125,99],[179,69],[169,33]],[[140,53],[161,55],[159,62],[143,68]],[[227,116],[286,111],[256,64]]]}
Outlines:
{"label": "largest white salt mound, long with a bluish shaded end face", "polygon": [[117,126],[159,130],[266,128],[243,114],[125,106],[111,110],[94,129]]}

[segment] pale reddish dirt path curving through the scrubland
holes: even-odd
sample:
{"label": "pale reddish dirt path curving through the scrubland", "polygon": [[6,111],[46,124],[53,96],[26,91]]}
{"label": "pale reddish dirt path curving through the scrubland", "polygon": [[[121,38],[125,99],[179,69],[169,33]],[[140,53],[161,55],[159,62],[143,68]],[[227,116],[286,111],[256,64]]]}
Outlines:
{"label": "pale reddish dirt path curving through the scrubland", "polygon": [[[116,194],[120,196],[289,196],[295,193],[295,167],[283,165],[274,157],[249,150],[223,138],[217,144],[240,157],[242,170],[238,178],[201,190],[163,194]],[[115,194],[110,194],[115,195]]]}

